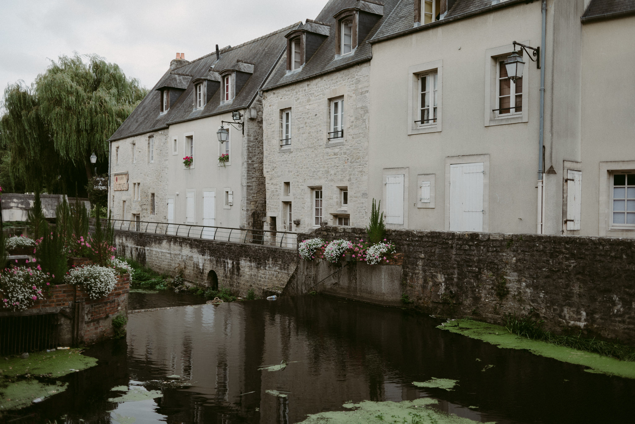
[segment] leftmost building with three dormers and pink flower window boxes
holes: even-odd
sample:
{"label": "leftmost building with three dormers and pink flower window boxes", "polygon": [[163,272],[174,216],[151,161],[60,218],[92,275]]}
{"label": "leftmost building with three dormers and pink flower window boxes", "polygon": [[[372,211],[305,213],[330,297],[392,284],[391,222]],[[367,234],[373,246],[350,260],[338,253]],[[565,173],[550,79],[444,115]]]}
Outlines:
{"label": "leftmost building with three dormers and pink flower window boxes", "polygon": [[[116,219],[262,228],[262,97],[286,27],[170,69],[110,137]],[[220,142],[217,132],[228,132]],[[192,158],[186,164],[185,159]],[[189,165],[189,166],[188,166]],[[134,228],[134,224],[133,224]],[[180,234],[180,233],[179,233]],[[215,234],[206,230],[203,237]]]}

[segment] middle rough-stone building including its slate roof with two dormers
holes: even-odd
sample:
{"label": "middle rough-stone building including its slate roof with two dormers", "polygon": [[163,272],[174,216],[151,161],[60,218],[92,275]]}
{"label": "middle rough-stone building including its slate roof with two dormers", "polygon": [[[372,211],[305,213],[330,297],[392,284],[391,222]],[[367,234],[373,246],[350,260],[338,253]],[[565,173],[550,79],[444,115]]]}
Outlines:
{"label": "middle rough-stone building including its slate roof with two dormers", "polygon": [[310,231],[368,220],[373,37],[397,1],[330,0],[287,32],[264,88],[269,228]]}

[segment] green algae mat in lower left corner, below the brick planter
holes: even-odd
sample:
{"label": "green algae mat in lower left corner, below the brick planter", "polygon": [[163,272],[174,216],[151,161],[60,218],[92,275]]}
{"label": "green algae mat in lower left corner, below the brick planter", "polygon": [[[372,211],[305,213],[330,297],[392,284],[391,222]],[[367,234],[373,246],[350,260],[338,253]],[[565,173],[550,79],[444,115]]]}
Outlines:
{"label": "green algae mat in lower left corner, below the brick planter", "polygon": [[[27,359],[0,359],[0,411],[20,409],[34,400],[64,392],[66,383],[55,378],[97,365],[97,359],[84,356],[79,349],[30,353]],[[39,381],[34,377],[51,379]]]}

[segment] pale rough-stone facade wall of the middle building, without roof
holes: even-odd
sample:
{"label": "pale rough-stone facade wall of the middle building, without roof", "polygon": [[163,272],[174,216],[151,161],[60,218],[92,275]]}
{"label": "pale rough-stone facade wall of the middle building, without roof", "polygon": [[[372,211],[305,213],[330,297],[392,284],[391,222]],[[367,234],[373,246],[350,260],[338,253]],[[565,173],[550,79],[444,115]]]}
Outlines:
{"label": "pale rough-stone facade wall of the middle building, without roof", "polygon": [[[291,202],[292,231],[314,227],[312,189],[323,190],[323,221],[337,224],[335,214],[350,214],[351,225],[366,220],[368,203],[368,119],[370,64],[275,88],[264,93],[264,173],[267,215],[283,228],[283,203]],[[344,97],[344,139],[328,141],[330,99]],[[280,149],[281,109],[291,108],[291,148]],[[283,183],[291,183],[284,196]],[[347,210],[340,189],[347,187]],[[286,219],[286,217],[284,217]]]}

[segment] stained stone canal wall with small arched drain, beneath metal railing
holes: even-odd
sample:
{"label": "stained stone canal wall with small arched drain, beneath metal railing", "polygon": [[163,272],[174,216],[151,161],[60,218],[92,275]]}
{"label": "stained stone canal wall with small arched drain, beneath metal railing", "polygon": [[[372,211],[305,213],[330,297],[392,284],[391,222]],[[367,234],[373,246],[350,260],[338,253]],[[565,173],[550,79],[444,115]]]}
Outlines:
{"label": "stained stone canal wall with small arched drain, beneath metal railing", "polygon": [[297,266],[297,252],[258,244],[218,242],[183,236],[115,231],[120,256],[159,273],[181,275],[199,287],[219,287],[257,296],[281,292]]}

